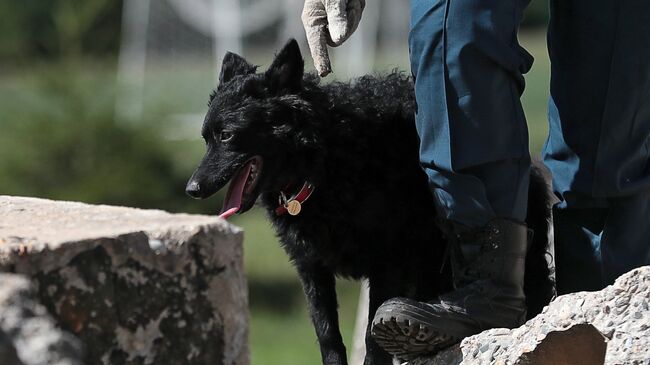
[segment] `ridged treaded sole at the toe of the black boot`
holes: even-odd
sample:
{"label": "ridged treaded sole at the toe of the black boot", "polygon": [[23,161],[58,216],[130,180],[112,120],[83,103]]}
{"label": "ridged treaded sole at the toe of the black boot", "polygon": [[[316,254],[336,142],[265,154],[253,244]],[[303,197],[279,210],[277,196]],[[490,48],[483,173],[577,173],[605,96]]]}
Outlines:
{"label": "ridged treaded sole at the toe of the black boot", "polygon": [[[440,319],[440,324],[446,327],[444,318]],[[386,352],[405,361],[438,352],[463,338],[444,333],[429,321],[431,313],[419,306],[406,303],[383,305],[377,310],[371,334]]]}

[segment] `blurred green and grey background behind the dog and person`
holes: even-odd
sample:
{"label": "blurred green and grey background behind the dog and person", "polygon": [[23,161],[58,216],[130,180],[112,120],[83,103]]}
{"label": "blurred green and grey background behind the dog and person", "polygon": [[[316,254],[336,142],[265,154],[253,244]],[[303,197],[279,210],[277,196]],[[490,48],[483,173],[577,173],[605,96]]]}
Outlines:
{"label": "blurred green and grey background behind the dog and person", "polygon": [[[368,0],[360,29],[333,51],[334,79],[408,70],[407,1]],[[544,141],[548,4],[527,10],[521,43],[536,61],[523,97],[530,147]],[[200,125],[226,50],[264,69],[290,37],[301,0],[3,0],[0,194],[216,214],[184,194],[203,154]],[[253,364],[320,362],[302,290],[262,212],[245,229]],[[340,281],[350,348],[359,295]]]}

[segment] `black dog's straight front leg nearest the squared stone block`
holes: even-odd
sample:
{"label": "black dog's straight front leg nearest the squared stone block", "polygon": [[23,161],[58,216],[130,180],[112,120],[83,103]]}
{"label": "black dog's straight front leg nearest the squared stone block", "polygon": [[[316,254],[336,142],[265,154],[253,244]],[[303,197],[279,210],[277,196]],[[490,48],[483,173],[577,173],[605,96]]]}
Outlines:
{"label": "black dog's straight front leg nearest the squared stone block", "polygon": [[334,274],[319,264],[298,265],[298,274],[307,296],[323,364],[347,365],[345,345],[339,331]]}

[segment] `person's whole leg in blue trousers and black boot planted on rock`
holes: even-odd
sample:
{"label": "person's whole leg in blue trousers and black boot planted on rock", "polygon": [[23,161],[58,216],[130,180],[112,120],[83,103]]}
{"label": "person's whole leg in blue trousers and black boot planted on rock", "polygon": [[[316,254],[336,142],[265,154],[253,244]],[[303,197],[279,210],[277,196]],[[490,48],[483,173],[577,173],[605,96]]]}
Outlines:
{"label": "person's whole leg in blue trousers and black boot planted on rock", "polygon": [[530,157],[519,97],[532,57],[517,30],[527,4],[411,3],[420,161],[451,242],[456,290],[429,303],[395,298],[380,306],[373,336],[398,357],[525,318]]}

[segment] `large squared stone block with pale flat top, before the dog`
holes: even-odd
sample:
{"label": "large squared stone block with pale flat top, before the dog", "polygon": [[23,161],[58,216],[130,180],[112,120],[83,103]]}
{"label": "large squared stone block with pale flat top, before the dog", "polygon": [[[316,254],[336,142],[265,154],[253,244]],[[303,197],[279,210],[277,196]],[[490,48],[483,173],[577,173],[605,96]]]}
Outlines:
{"label": "large squared stone block with pale flat top, before the dog", "polygon": [[0,196],[0,271],[30,277],[87,364],[248,364],[242,232],[206,216]]}

